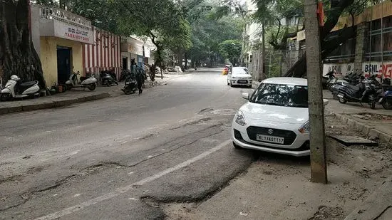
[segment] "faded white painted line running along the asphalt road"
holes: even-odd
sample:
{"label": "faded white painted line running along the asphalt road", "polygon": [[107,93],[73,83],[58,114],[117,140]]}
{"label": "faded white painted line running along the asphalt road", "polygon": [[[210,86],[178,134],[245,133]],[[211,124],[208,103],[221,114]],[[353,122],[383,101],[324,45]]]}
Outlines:
{"label": "faded white painted line running along the asphalt road", "polygon": [[226,140],[225,142],[222,142],[220,145],[217,145],[216,147],[211,148],[210,150],[207,150],[206,152],[203,152],[202,154],[197,155],[196,157],[193,157],[192,159],[188,159],[185,162],[182,162],[180,164],[177,164],[175,167],[170,167],[168,169],[165,169],[163,172],[159,172],[158,174],[155,174],[153,176],[147,177],[145,179],[142,179],[138,182],[135,182],[133,184],[130,184],[125,187],[120,187],[115,190],[115,192],[109,192],[108,194],[104,194],[103,196],[96,197],[94,199],[84,201],[81,204],[77,204],[75,206],[68,207],[66,209],[63,209],[61,211],[57,211],[52,214],[48,214],[46,216],[39,217],[38,219],[35,220],[51,220],[51,219],[58,219],[63,216],[66,216],[68,214],[73,214],[76,211],[80,211],[81,209],[84,209],[88,206],[92,206],[93,204],[97,204],[100,201],[104,201],[106,199],[110,199],[113,197],[118,197],[120,194],[124,194],[125,192],[130,191],[130,189],[133,189],[135,186],[141,186],[143,184],[146,184],[148,182],[153,182],[155,179],[158,179],[160,177],[165,176],[166,174],[170,174],[172,172],[175,172],[178,169],[181,169],[183,167],[187,167],[188,165],[197,162],[200,159],[203,159],[204,157],[207,157],[208,155],[212,154],[213,152],[216,152],[217,150],[220,150],[222,147],[225,147],[228,145],[231,140]]}

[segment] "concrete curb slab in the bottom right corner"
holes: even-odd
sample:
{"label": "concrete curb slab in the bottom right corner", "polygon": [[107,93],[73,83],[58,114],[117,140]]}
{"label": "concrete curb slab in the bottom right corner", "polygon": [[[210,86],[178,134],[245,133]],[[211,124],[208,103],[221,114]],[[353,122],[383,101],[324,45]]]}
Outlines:
{"label": "concrete curb slab in the bottom right corner", "polygon": [[[344,220],[378,219],[387,209],[392,207],[392,177],[386,179],[376,192],[371,194],[363,203],[351,212]],[[386,213],[385,213],[386,214]],[[388,215],[388,214],[386,214]],[[384,216],[386,218],[388,216]]]}

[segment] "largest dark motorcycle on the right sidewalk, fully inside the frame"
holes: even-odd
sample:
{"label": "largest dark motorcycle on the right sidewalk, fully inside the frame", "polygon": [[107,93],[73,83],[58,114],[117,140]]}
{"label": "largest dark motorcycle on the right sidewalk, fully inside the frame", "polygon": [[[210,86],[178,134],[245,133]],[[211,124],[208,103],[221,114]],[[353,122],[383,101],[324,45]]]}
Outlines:
{"label": "largest dark motorcycle on the right sidewalk, fully inside the frame", "polygon": [[368,103],[371,109],[376,108],[376,77],[372,75],[370,78],[362,80],[359,85],[351,85],[348,83],[335,84],[333,89],[337,91],[339,103]]}

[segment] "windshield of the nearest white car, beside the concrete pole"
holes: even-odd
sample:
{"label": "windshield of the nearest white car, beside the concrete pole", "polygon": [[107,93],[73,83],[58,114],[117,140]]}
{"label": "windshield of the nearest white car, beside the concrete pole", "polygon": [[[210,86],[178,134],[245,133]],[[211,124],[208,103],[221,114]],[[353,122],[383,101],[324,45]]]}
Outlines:
{"label": "windshield of the nearest white car, beside the concrete pole", "polygon": [[308,87],[263,83],[254,91],[251,103],[308,108]]}

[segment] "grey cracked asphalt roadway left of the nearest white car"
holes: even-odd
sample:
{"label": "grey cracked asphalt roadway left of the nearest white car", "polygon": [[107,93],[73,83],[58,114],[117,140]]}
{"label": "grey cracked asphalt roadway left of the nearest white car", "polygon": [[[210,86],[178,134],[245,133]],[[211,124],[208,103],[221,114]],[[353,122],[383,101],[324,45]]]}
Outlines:
{"label": "grey cracked asphalt roadway left of the nearest white car", "polygon": [[229,128],[247,88],[221,69],[143,95],[0,116],[0,219],[163,219],[203,201],[257,157]]}

